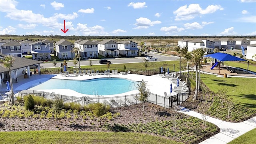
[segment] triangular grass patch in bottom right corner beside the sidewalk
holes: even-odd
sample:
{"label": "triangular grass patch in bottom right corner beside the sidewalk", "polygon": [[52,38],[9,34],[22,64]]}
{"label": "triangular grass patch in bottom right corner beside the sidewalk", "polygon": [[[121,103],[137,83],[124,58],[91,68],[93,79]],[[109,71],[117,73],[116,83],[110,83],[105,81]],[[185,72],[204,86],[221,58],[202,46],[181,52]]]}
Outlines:
{"label": "triangular grass patch in bottom right corner beside the sidewalk", "polygon": [[255,144],[256,142],[255,133],[256,133],[256,128],[254,128],[253,130],[250,130],[249,132],[246,132],[245,134],[232,140],[228,144]]}

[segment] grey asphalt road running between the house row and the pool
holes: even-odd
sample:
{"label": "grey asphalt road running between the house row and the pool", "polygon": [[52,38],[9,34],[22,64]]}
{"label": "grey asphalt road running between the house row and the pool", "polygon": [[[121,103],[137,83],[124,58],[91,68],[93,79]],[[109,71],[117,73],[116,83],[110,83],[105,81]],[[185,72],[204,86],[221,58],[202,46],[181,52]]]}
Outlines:
{"label": "grey asphalt road running between the house row and the pool", "polygon": [[[162,54],[157,54],[157,53],[150,53],[148,56],[154,56],[158,58],[158,61],[168,61],[168,60],[179,60],[179,57],[177,56],[165,56]],[[108,58],[111,62],[111,64],[125,64],[125,63],[135,63],[135,62],[143,62],[143,58],[141,57],[136,57],[136,58]],[[67,60],[68,66],[74,66],[72,60]],[[56,67],[60,67],[62,62],[57,62]],[[92,65],[99,64],[99,59],[94,59],[92,60]],[[89,60],[80,60],[80,66],[86,66],[90,65]],[[54,65],[52,62],[47,62],[40,64],[40,66],[43,66],[43,68],[53,68]],[[78,64],[76,64],[78,66]]]}

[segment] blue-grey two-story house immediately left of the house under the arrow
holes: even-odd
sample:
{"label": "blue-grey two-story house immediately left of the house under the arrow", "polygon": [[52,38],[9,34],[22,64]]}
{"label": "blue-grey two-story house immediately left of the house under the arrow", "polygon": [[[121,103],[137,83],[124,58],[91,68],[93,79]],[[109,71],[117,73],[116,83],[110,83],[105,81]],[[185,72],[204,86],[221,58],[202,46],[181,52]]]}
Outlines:
{"label": "blue-grey two-story house immediately left of the house under the arrow", "polygon": [[44,42],[33,42],[30,44],[33,60],[50,60],[50,44]]}

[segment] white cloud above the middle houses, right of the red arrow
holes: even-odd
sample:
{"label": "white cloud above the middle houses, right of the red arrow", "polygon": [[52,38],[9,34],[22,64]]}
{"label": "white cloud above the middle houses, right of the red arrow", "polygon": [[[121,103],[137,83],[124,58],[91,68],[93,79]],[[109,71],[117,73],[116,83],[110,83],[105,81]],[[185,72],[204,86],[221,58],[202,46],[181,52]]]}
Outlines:
{"label": "white cloud above the middle houses, right of the red arrow", "polygon": [[138,18],[136,19],[136,27],[135,29],[140,29],[140,28],[148,28],[149,26],[154,26],[155,24],[161,24],[162,22],[160,22],[159,20],[156,21],[151,21],[148,18]]}

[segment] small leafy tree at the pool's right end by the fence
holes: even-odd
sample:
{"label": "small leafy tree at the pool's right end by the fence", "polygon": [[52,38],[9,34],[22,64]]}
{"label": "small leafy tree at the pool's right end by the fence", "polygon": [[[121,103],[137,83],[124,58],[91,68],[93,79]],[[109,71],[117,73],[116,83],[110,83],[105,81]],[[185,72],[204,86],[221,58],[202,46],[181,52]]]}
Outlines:
{"label": "small leafy tree at the pool's right end by the fence", "polygon": [[144,102],[148,100],[150,96],[149,89],[147,89],[147,84],[142,80],[142,82],[137,84],[137,89],[139,90],[139,95],[136,95],[135,98],[143,102],[143,111],[144,111]]}

